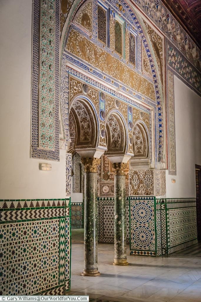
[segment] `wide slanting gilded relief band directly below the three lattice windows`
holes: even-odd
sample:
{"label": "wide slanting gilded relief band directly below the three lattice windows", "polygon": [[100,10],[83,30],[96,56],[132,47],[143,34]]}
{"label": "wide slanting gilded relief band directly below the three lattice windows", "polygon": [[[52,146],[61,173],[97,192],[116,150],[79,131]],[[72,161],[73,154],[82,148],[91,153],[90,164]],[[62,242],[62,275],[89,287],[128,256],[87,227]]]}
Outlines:
{"label": "wide slanting gilded relief band directly below the three lattice windows", "polygon": [[99,68],[102,72],[155,100],[154,85],[151,82],[73,29],[66,48],[70,53]]}

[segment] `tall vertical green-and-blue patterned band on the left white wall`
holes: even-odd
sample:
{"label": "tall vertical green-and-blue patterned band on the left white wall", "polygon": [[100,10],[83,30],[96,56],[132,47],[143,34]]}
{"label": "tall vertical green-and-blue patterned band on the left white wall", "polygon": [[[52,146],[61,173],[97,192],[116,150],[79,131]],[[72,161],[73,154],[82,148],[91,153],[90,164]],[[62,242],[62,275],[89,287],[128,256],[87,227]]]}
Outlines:
{"label": "tall vertical green-and-blue patterned band on the left white wall", "polygon": [[59,160],[59,1],[34,1],[31,156]]}

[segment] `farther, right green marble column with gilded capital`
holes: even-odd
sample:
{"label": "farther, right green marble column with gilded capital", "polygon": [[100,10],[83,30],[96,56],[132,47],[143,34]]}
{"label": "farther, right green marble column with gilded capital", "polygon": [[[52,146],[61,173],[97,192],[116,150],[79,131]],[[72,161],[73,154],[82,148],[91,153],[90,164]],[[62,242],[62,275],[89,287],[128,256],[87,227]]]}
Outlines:
{"label": "farther, right green marble column with gilded capital", "polygon": [[125,172],[127,164],[112,164],[115,169],[115,258],[114,265],[128,265],[126,257],[126,190]]}

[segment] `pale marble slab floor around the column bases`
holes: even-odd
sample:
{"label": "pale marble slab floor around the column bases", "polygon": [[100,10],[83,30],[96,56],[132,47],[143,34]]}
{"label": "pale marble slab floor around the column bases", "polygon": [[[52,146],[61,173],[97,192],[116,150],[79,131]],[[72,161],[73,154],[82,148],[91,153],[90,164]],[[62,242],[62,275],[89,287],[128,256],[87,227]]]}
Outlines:
{"label": "pale marble slab floor around the column bases", "polygon": [[201,302],[201,244],[157,258],[130,256],[127,246],[129,265],[114,266],[114,245],[99,243],[101,275],[83,277],[83,229],[73,229],[71,257],[67,294],[87,294],[90,301]]}

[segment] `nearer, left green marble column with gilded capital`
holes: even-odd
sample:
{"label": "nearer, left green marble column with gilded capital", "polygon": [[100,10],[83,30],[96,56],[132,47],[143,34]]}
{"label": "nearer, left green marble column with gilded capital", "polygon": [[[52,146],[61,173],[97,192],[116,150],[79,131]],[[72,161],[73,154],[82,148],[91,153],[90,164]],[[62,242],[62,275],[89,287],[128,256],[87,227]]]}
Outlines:
{"label": "nearer, left green marble column with gilded capital", "polygon": [[84,165],[84,269],[83,276],[98,276],[97,166],[100,159],[82,158]]}

